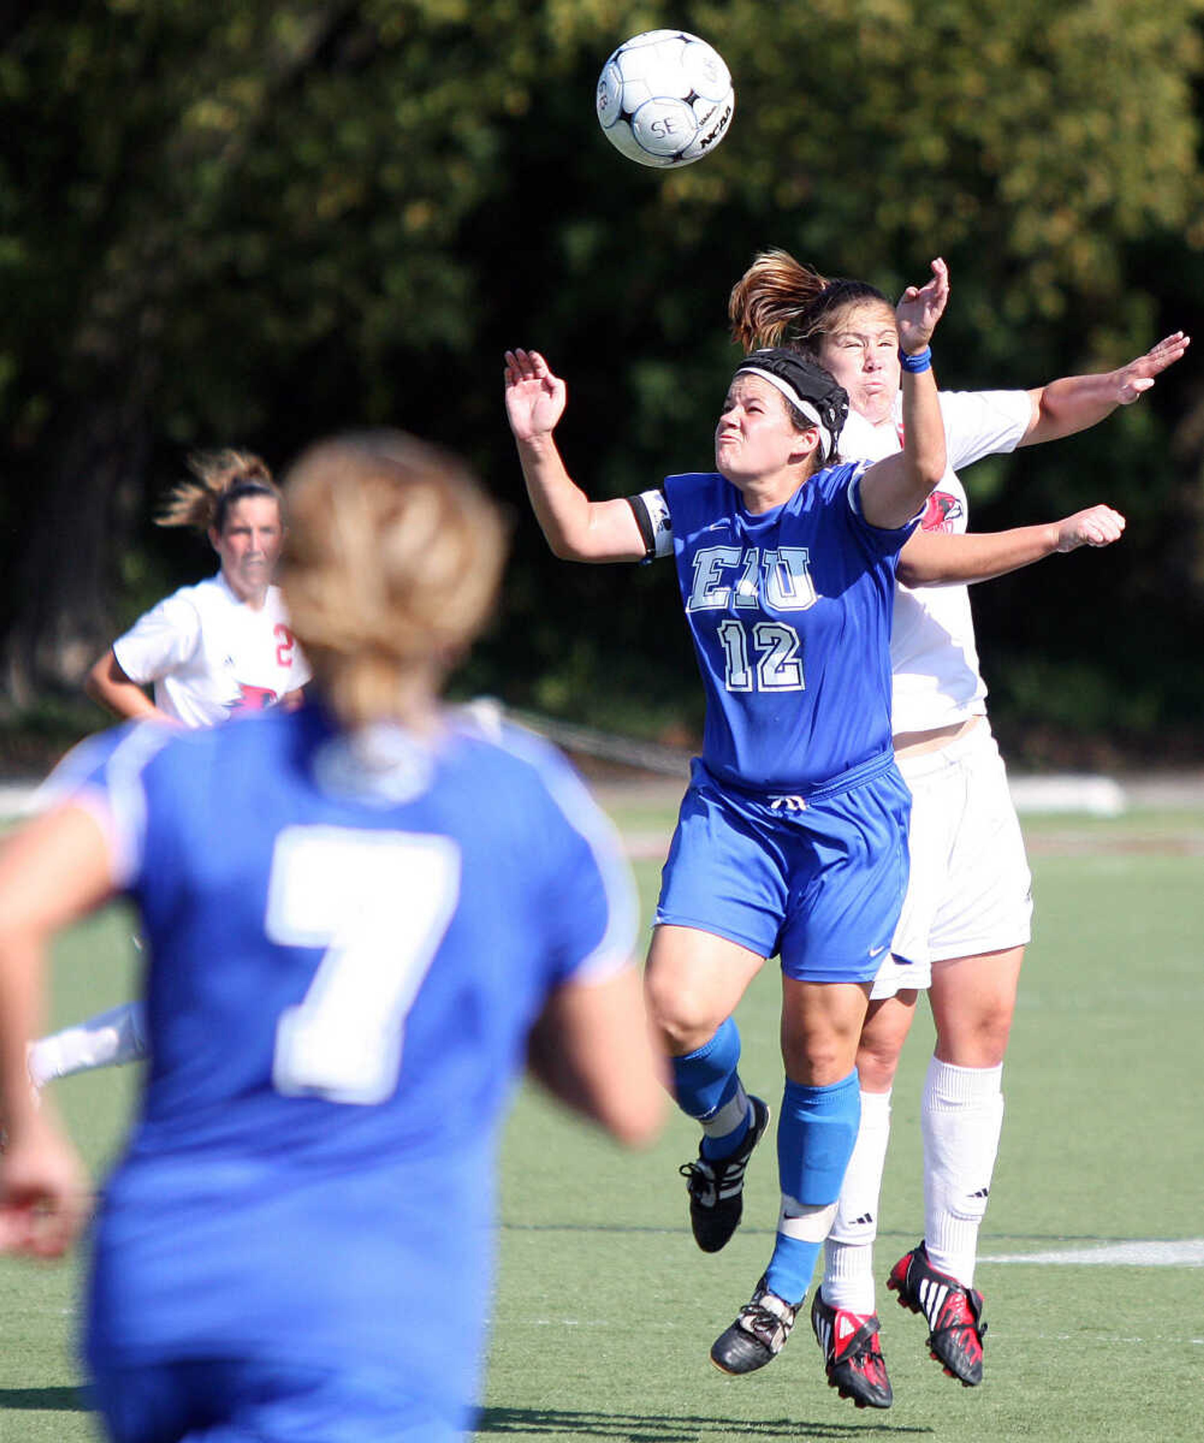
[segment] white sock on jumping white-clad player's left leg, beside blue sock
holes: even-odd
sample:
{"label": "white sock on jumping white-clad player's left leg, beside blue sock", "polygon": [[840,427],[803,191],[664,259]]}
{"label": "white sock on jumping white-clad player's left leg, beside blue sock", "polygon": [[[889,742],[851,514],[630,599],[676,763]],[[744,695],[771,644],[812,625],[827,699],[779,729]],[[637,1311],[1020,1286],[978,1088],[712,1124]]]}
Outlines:
{"label": "white sock on jumping white-clad player's left leg, beside blue sock", "polygon": [[891,1140],[891,1094],[862,1092],[862,1121],[836,1218],[824,1245],[823,1297],[830,1307],[872,1313],[873,1240],[886,1143]]}

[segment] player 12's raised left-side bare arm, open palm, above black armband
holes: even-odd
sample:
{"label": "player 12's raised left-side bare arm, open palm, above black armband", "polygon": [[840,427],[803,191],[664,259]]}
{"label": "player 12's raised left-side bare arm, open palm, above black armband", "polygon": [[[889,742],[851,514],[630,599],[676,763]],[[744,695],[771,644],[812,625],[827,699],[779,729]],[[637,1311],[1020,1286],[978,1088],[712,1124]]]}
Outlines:
{"label": "player 12's raised left-side bare arm, open palm, above black armband", "polygon": [[590,501],[564,468],[553,436],[564,400],[564,382],[538,351],[507,351],[505,413],[540,530],[564,561],[642,561],[627,501]]}

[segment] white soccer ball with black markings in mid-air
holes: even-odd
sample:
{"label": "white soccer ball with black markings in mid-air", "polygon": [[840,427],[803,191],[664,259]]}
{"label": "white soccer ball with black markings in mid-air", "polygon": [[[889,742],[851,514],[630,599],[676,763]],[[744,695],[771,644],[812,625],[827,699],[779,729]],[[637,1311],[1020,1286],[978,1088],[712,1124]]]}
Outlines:
{"label": "white soccer ball with black markings in mid-air", "polygon": [[719,53],[684,30],[632,36],[598,76],[598,123],[641,166],[702,160],[726,136],[735,105]]}

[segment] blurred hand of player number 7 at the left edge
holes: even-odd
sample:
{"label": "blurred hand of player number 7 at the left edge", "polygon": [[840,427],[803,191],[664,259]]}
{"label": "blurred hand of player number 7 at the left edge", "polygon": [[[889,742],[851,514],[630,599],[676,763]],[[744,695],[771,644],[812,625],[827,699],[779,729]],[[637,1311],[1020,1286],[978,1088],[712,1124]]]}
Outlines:
{"label": "blurred hand of player number 7 at the left edge", "polygon": [[88,1218],[91,1190],[75,1149],[45,1114],[0,1156],[0,1253],[61,1257]]}

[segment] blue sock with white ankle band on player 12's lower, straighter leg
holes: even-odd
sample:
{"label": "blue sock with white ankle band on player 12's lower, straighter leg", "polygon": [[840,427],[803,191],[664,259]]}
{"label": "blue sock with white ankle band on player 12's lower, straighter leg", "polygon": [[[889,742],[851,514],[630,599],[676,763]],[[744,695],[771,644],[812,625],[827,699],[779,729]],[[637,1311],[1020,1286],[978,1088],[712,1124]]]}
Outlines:
{"label": "blue sock with white ankle band on player 12's lower, straighter leg", "polygon": [[[853,1156],[859,1121],[860,1089],[856,1069],[829,1087],[804,1087],[787,1079],[778,1120],[778,1179],[784,1218],[790,1216],[793,1203],[816,1209],[836,1202],[845,1169]],[[771,1293],[788,1303],[801,1302],[811,1284],[827,1224],[816,1231],[816,1238],[778,1231],[774,1241],[767,1284]]]}

